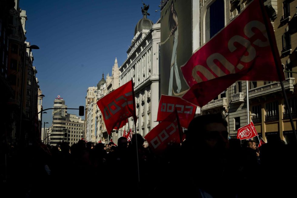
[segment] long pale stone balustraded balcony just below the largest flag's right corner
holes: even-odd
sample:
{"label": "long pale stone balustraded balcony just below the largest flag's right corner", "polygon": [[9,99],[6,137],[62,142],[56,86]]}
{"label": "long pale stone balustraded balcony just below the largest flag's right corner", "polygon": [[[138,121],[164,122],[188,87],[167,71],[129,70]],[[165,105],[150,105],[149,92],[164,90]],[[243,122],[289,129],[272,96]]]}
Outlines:
{"label": "long pale stone balustraded balcony just below the largest flag's right corner", "polygon": [[[289,91],[294,91],[295,78],[287,78],[284,82],[284,88]],[[280,82],[273,82],[267,85],[263,85],[249,90],[249,98],[255,98],[258,96],[268,95],[273,92],[279,92],[282,90]]]}

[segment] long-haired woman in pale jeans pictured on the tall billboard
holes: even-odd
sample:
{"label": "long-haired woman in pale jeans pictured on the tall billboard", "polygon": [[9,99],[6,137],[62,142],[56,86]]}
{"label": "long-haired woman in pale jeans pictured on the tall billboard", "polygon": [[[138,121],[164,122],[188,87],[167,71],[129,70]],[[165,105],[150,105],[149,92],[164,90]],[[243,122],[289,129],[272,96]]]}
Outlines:
{"label": "long-haired woman in pale jeans pictured on the tall billboard", "polygon": [[179,93],[182,89],[182,84],[179,77],[179,69],[177,67],[176,62],[176,49],[177,49],[177,43],[178,43],[178,37],[179,37],[179,30],[178,30],[178,20],[177,20],[177,13],[174,9],[173,1],[170,5],[170,12],[169,12],[169,29],[170,29],[170,36],[173,35],[173,49],[172,49],[172,57],[171,57],[171,64],[170,64],[170,79],[169,79],[169,89],[168,89],[168,95],[172,96],[172,84],[173,84],[173,70],[175,74],[175,81],[177,90],[176,92]]}

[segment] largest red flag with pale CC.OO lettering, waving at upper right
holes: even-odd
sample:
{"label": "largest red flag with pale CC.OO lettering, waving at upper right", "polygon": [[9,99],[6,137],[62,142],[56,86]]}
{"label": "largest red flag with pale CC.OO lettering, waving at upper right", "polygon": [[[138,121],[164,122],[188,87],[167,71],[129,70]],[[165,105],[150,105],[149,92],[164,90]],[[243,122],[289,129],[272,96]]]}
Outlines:
{"label": "largest red flag with pale CC.OO lettering, waving at upper right", "polygon": [[261,3],[259,0],[251,2],[181,67],[191,87],[183,99],[203,106],[237,80],[279,80],[276,67],[283,69],[272,25],[268,23],[267,14],[261,11]]}

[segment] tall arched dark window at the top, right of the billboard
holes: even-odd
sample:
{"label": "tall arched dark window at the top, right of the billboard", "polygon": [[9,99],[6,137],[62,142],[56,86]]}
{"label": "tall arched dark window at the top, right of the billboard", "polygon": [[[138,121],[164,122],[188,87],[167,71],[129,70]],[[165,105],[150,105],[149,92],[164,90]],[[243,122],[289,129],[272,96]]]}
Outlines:
{"label": "tall arched dark window at the top, right of the billboard", "polygon": [[216,0],[207,9],[205,16],[205,42],[225,26],[224,9],[224,0]]}

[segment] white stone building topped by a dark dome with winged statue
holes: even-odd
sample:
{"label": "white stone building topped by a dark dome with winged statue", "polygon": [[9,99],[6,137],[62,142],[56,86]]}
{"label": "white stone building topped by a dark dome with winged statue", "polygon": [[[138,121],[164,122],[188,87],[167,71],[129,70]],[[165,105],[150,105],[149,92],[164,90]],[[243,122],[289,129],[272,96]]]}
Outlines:
{"label": "white stone building topped by a dark dome with winged statue", "polygon": [[[131,46],[127,50],[127,59],[120,67],[120,85],[133,79],[136,115],[136,130],[133,118],[129,118],[129,126],[133,133],[137,131],[145,136],[158,125],[157,113],[159,104],[159,43],[161,40],[161,24],[146,18],[140,19],[135,27]],[[129,130],[128,124],[120,130]]]}

